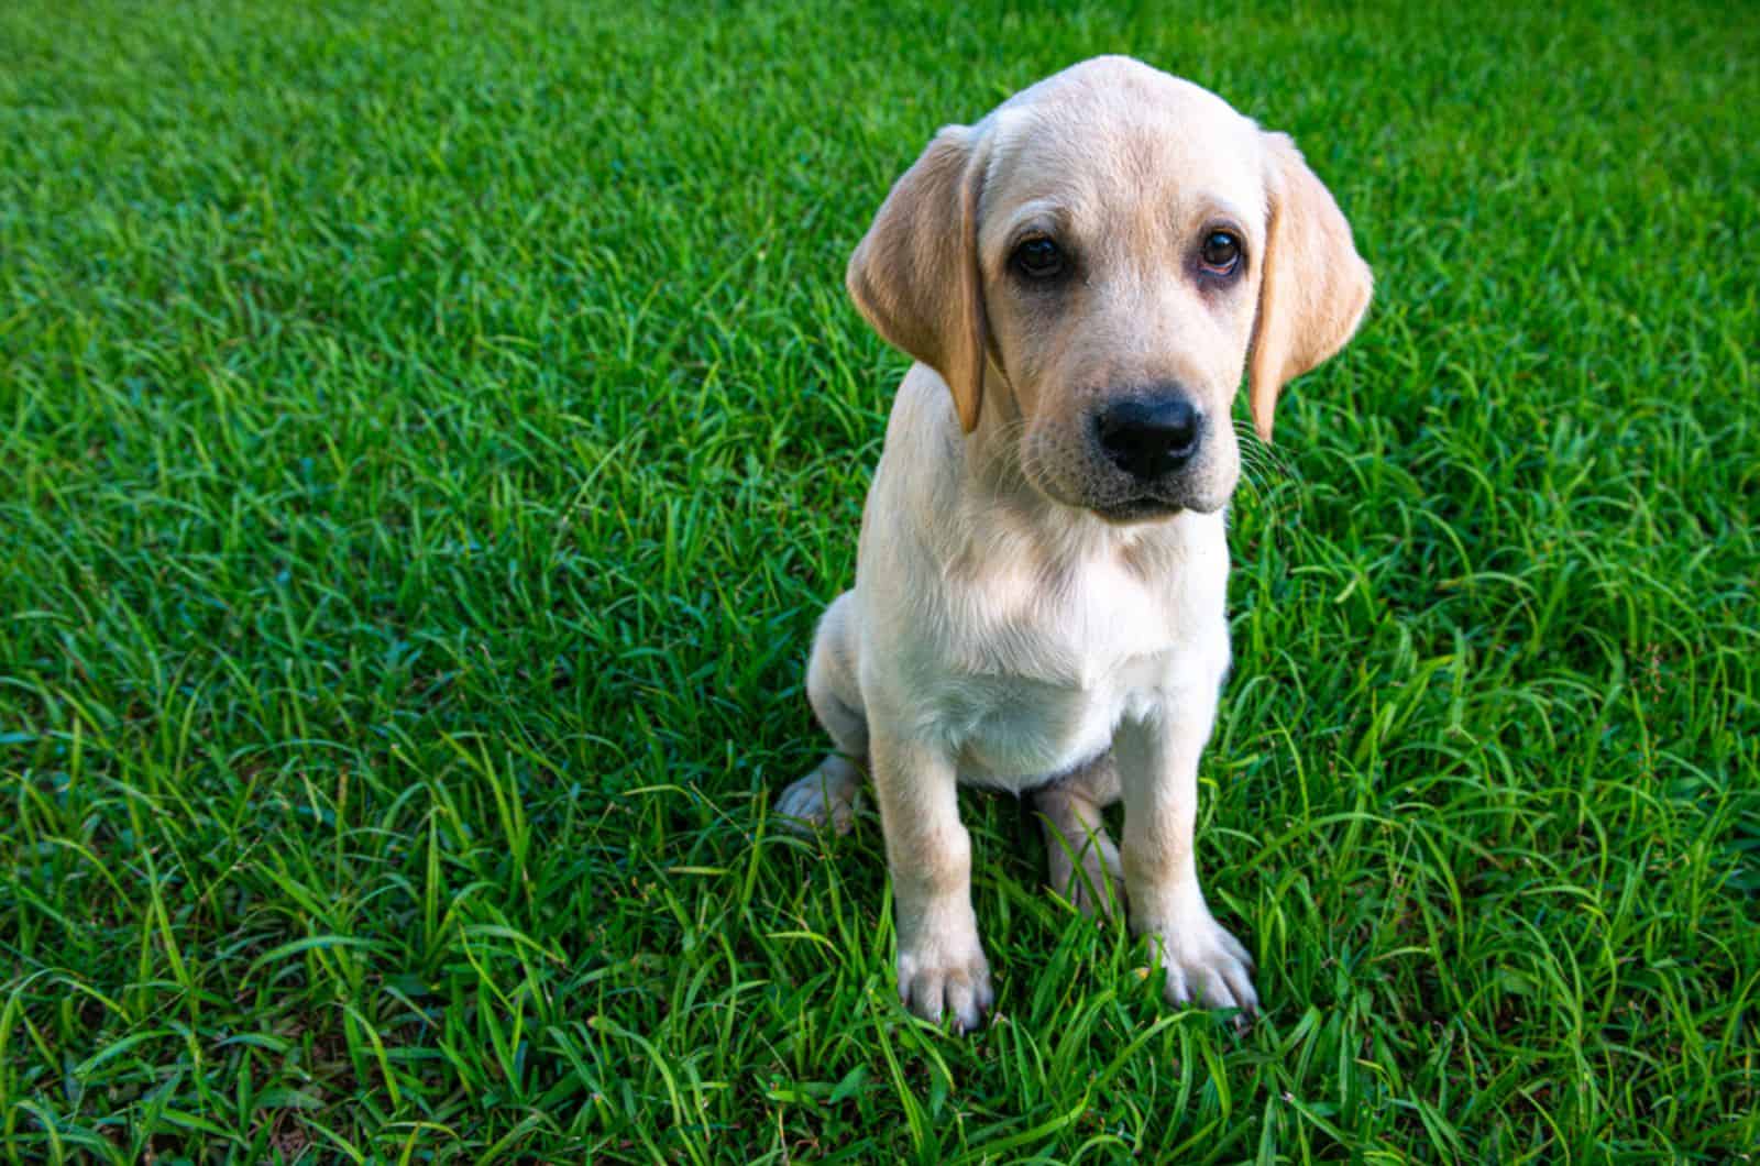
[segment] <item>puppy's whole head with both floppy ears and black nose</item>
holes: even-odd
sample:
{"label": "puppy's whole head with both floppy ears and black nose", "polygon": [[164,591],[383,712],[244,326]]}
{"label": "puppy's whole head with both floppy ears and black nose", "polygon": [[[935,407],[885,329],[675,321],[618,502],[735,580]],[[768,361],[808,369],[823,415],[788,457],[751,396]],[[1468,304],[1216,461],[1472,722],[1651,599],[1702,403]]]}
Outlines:
{"label": "puppy's whole head with both floppy ears and black nose", "polygon": [[1033,490],[1132,521],[1227,504],[1248,359],[1269,439],[1278,389],[1350,338],[1371,277],[1287,137],[1098,58],[942,130],[848,285]]}

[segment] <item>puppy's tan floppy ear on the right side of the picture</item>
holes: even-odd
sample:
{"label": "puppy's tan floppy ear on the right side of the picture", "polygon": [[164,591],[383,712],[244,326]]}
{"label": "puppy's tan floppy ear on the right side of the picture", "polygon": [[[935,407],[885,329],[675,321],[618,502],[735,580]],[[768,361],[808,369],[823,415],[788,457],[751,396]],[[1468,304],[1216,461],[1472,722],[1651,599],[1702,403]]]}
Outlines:
{"label": "puppy's tan floppy ear on the right side of the picture", "polygon": [[1248,380],[1253,426],[1269,442],[1278,391],[1345,347],[1375,277],[1288,134],[1265,134],[1265,169],[1271,224]]}

